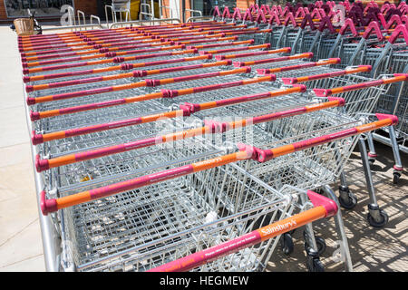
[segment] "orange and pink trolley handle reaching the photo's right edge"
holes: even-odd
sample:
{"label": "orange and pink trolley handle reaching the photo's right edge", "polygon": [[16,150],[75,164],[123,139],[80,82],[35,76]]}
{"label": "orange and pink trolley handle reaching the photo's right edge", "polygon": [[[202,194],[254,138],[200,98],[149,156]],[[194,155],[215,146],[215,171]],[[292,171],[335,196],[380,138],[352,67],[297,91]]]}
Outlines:
{"label": "orange and pink trolley handle reaching the photo's right edge", "polygon": [[394,74],[394,77],[388,78],[388,79],[380,79],[380,80],[375,80],[375,81],[370,81],[370,82],[360,82],[360,83],[350,84],[350,85],[346,85],[343,87],[337,87],[333,89],[313,89],[313,91],[316,93],[316,96],[318,97],[327,97],[327,96],[331,96],[337,93],[363,90],[366,88],[379,86],[382,84],[393,83],[393,82],[406,82],[406,81],[408,81],[408,73],[402,73],[399,75]]}

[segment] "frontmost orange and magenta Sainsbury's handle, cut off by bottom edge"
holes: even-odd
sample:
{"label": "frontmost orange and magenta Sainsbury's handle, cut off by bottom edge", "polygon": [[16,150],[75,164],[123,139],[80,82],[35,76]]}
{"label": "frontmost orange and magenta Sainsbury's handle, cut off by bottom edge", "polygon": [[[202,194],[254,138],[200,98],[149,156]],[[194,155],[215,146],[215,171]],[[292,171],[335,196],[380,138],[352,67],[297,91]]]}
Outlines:
{"label": "frontmost orange and magenta Sainsbury's handle, cut off by bottom edge", "polygon": [[306,211],[290,218],[284,218],[266,227],[260,227],[246,235],[233,238],[218,246],[209,247],[162,266],[154,267],[147,272],[186,272],[223,256],[236,253],[241,249],[253,247],[272,237],[277,237],[318,219],[332,217],[337,213],[338,207],[332,199],[325,198],[311,190],[307,190],[306,193],[308,198],[312,201],[314,208],[307,209]]}

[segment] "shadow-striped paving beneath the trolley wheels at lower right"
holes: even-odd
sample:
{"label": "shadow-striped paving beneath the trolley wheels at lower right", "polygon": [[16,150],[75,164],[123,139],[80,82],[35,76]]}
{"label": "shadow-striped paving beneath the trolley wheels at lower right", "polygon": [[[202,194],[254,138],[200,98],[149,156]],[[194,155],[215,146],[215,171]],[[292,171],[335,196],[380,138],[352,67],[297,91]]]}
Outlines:
{"label": "shadow-striped paving beneath the trolley wheels at lower right", "polygon": [[[358,272],[367,271],[408,271],[408,174],[403,171],[398,185],[393,184],[393,153],[383,144],[375,144],[379,157],[373,166],[373,179],[376,197],[380,208],[388,216],[388,224],[381,229],[370,227],[366,221],[369,203],[365,179],[360,160],[360,153],[355,151],[345,172],[350,189],[358,198],[353,210],[342,209],[345,232],[354,265]],[[403,154],[403,166],[408,168],[408,155]],[[338,185],[333,186],[337,189]],[[333,255],[338,249],[335,241],[334,218],[316,222],[316,236],[324,237],[327,248],[321,257],[327,271],[343,271],[344,264],[335,262]],[[281,251],[270,260],[267,270],[270,271],[306,271],[306,256],[303,246],[302,231],[294,234],[295,251],[285,256]]]}

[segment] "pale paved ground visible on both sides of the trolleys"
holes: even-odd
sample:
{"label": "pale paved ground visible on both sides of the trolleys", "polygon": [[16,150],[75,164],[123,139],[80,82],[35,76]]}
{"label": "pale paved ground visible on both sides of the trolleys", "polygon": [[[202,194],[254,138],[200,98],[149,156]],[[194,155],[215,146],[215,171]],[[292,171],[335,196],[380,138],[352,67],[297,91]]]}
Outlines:
{"label": "pale paved ground visible on both sides of the trolleys", "polygon": [[[15,34],[7,26],[0,26],[0,35],[0,271],[44,271],[20,56]],[[359,202],[354,210],[342,211],[351,255],[355,271],[407,271],[408,174],[404,171],[400,184],[393,185],[392,151],[381,144],[377,150],[374,183],[379,204],[389,214],[390,222],[383,229],[367,225],[368,197],[359,153],[355,152],[346,173]],[[403,162],[408,168],[408,156],[403,155]],[[332,258],[337,248],[333,218],[315,226],[327,244],[322,256],[327,271],[342,271],[342,264]],[[294,254],[284,256],[277,251],[268,271],[306,270],[301,231],[294,237]]]}

